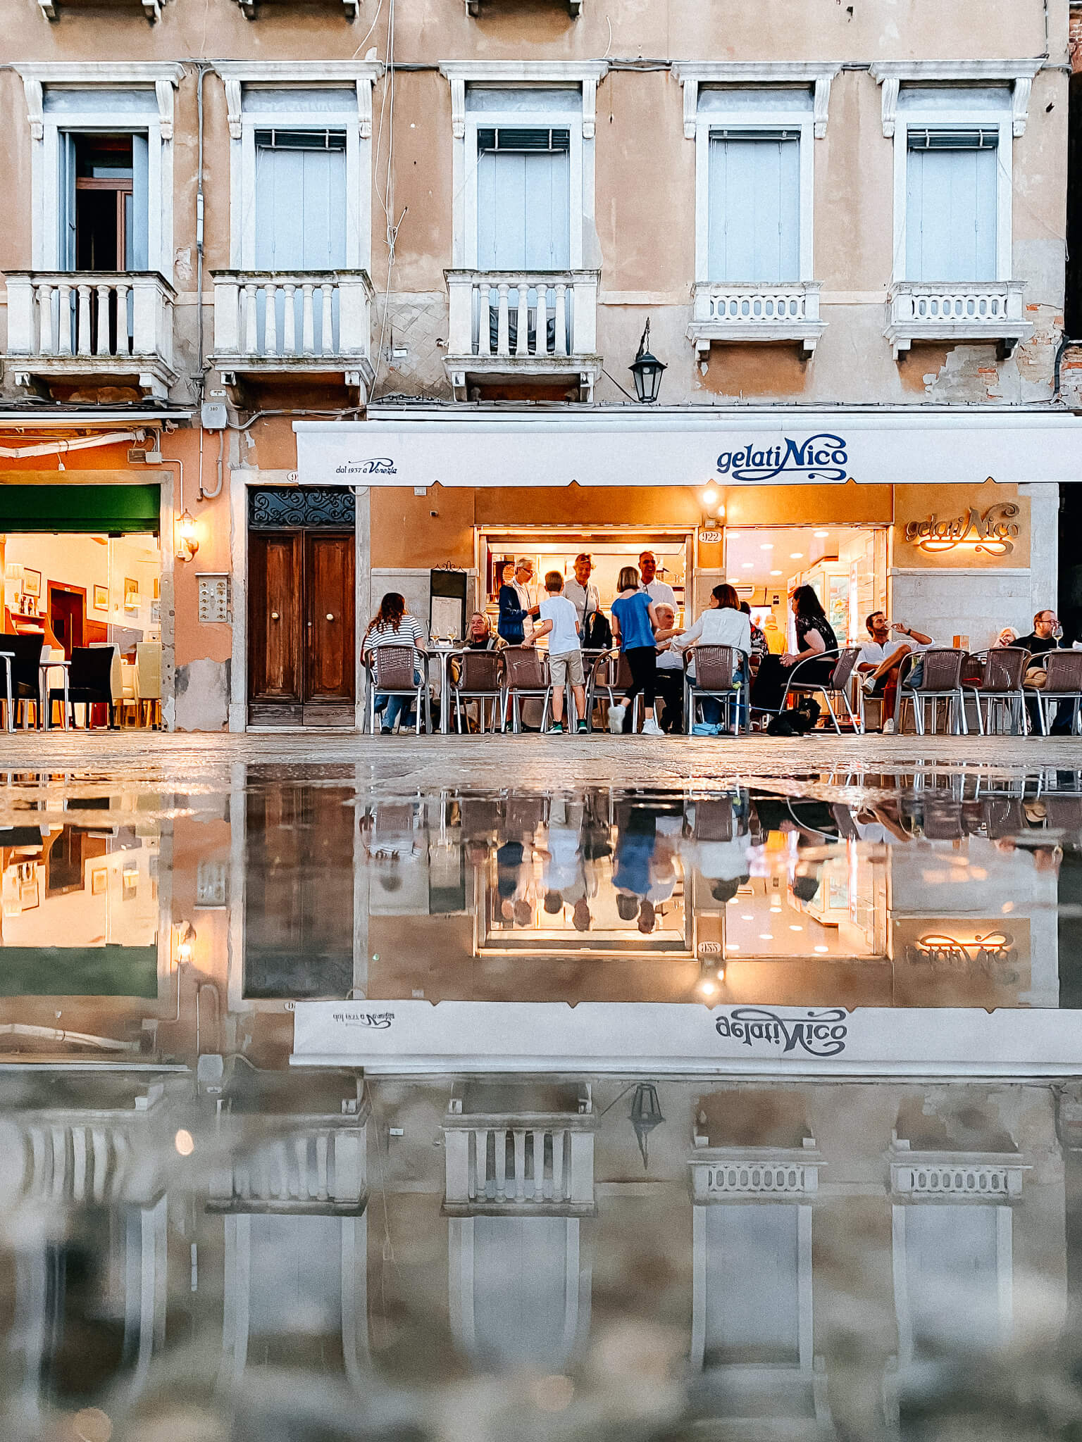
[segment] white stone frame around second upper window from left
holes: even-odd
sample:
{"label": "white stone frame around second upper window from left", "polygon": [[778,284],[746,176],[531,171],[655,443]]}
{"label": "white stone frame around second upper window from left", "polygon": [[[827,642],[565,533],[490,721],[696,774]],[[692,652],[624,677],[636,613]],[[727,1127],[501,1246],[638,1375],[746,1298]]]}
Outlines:
{"label": "white stone frame around second upper window from left", "polygon": [[[379,61],[216,61],[225,88],[229,127],[229,268],[255,264],[255,130],[277,125],[307,128],[313,120],[346,133],[346,270],[372,268],[372,88],[382,76]],[[245,85],[283,89],[356,89],[348,111],[244,110]]]}

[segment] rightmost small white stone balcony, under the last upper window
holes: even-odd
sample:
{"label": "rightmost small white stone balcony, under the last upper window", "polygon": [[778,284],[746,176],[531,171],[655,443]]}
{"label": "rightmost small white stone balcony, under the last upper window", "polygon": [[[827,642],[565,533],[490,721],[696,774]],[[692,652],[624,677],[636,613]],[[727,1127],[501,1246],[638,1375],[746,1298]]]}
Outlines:
{"label": "rightmost small white stone balcony, under the last upper window", "polygon": [[883,335],[894,348],[894,359],[915,340],[994,340],[1010,355],[1020,340],[1033,335],[1024,319],[1020,280],[958,281],[928,284],[896,281],[887,297],[887,327]]}

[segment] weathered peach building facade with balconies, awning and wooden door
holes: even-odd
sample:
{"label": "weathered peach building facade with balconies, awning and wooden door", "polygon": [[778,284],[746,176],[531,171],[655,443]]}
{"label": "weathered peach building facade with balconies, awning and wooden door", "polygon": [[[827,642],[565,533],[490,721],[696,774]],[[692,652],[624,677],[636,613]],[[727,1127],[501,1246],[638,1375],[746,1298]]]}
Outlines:
{"label": "weathered peach building facade with balconies, awning and wooden door", "polygon": [[462,634],[518,555],[854,640],[1056,604],[1068,0],[19,0],[9,53],[6,629],[157,647],[166,725],[352,727],[379,597]]}

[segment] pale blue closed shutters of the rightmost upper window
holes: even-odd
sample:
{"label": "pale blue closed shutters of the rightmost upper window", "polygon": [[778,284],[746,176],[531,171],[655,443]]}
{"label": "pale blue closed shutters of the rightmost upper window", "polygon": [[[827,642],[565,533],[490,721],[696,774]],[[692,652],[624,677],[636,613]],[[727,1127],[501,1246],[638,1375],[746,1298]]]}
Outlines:
{"label": "pale blue closed shutters of the rightmost upper window", "polygon": [[995,280],[998,127],[909,125],[906,280]]}

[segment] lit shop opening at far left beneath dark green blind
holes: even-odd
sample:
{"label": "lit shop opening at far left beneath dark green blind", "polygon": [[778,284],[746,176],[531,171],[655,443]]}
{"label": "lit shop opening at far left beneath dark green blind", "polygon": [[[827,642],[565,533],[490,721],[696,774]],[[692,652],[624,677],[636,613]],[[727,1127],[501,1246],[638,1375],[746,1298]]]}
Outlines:
{"label": "lit shop opening at far left beneath dark green blind", "polygon": [[[101,513],[79,516],[79,499],[85,497],[75,493],[91,489],[4,487],[0,525],[10,529],[0,534],[3,630],[23,640],[12,647],[13,665],[30,675],[38,665],[36,643],[42,662],[68,662],[71,688],[94,692],[92,705],[75,707],[76,725],[104,725],[110,720],[117,725],[160,725],[159,487],[98,487],[102,500],[91,510]],[[66,502],[68,512],[53,513],[52,500]],[[65,529],[45,529],[50,525]],[[53,694],[62,691],[61,666],[42,675],[48,675]],[[17,720],[22,724],[38,717],[20,708]],[[62,720],[59,705],[50,720]]]}

